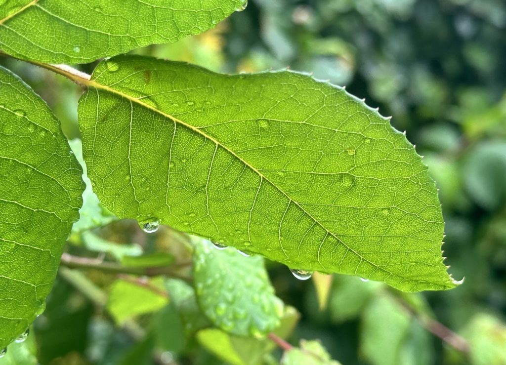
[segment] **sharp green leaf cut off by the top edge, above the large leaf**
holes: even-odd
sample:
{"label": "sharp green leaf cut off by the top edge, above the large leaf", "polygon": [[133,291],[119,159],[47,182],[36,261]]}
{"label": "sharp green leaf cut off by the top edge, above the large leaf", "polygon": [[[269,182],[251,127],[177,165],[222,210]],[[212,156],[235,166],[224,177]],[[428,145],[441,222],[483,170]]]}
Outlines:
{"label": "sharp green leaf cut off by the top edge, above the large leaf", "polygon": [[13,0],[0,5],[0,48],[46,63],[88,63],[214,27],[245,0]]}

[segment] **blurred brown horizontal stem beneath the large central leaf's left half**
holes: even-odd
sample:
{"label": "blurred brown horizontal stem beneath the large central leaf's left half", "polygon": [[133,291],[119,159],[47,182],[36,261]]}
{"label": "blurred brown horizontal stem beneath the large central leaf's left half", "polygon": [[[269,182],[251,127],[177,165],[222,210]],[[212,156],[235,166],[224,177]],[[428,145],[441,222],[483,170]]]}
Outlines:
{"label": "blurred brown horizontal stem beneath the large central leaf's left half", "polygon": [[178,272],[175,272],[175,269],[177,269],[178,266],[180,267],[182,265],[157,266],[157,267],[123,266],[115,262],[102,261],[89,257],[78,257],[70,255],[68,253],[62,254],[61,264],[69,268],[97,269],[101,271],[115,272],[119,274],[130,274],[137,276],[154,277],[159,275],[166,275],[173,278],[184,280],[188,283],[192,282],[191,278],[180,275]]}

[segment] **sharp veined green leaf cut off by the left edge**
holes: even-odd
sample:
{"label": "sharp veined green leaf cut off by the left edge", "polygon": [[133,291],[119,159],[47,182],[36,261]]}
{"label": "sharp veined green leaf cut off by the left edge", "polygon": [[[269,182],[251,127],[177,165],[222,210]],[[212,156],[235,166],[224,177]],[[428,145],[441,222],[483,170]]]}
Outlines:
{"label": "sharp veined green leaf cut off by the left edge", "polygon": [[81,173],[46,103],[0,67],[0,349],[44,310]]}

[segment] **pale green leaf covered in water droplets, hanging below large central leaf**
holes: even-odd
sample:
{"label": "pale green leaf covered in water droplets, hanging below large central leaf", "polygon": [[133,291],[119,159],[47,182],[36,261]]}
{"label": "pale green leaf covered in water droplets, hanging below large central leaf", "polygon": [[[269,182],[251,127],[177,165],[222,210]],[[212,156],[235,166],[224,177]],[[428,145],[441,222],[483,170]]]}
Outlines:
{"label": "pale green leaf covered in water droplets, hanging below large central leaf", "polygon": [[240,336],[263,337],[278,327],[283,302],[274,295],[263,258],[195,241],[194,283],[205,315],[217,327]]}

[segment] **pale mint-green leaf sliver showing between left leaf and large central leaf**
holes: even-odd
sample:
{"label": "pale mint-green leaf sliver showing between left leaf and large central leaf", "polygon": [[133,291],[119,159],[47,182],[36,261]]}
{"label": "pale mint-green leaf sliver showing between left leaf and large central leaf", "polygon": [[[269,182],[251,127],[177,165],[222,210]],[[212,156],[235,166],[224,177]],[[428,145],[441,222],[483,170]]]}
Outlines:
{"label": "pale mint-green leaf sliver showing between left leaf and large central leaf", "polygon": [[82,159],[82,143],[79,139],[69,141],[70,148],[82,167],[82,180],[86,189],[82,193],[82,206],[79,209],[79,220],[72,225],[72,234],[78,234],[95,227],[109,224],[117,218],[98,201],[92,190],[92,182],[88,178],[85,161]]}

